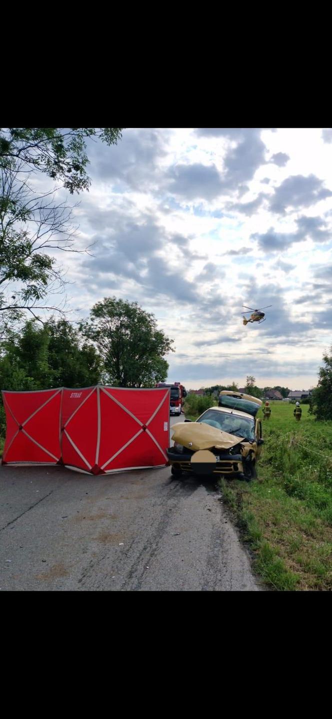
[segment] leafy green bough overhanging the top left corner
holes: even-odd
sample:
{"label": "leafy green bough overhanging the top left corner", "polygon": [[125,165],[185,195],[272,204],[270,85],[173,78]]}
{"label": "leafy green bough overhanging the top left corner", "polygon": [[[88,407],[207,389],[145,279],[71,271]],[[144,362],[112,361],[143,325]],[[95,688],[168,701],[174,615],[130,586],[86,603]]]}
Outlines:
{"label": "leafy green bough overhanging the top left corner", "polygon": [[0,128],[0,168],[11,169],[13,161],[25,170],[39,170],[73,192],[89,189],[86,174],[89,159],[86,139],[101,139],[117,145],[122,127],[6,127]]}

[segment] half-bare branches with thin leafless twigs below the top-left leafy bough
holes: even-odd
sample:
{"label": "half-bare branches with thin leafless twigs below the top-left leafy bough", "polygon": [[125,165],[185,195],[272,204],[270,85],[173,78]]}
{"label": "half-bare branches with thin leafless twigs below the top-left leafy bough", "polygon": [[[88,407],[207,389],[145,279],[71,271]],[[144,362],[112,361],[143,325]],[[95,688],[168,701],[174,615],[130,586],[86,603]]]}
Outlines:
{"label": "half-bare branches with thin leafless twigs below the top-left leafy bough", "polygon": [[[0,313],[4,323],[22,310],[45,309],[45,297],[63,292],[64,279],[49,249],[75,252],[71,208],[55,192],[22,183],[21,167],[0,170]],[[48,309],[55,309],[48,303]]]}

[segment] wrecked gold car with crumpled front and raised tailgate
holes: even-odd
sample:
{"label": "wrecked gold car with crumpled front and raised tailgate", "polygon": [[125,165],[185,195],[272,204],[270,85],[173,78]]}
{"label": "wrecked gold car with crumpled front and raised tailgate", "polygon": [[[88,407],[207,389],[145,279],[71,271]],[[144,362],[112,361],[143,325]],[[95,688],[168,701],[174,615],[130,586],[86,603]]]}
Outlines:
{"label": "wrecked gold car with crumpled front and raised tailgate", "polygon": [[251,480],[257,476],[261,454],[261,420],[256,413],[261,400],[251,395],[223,390],[217,407],[210,407],[195,421],[174,425],[167,449],[171,473],[225,475]]}

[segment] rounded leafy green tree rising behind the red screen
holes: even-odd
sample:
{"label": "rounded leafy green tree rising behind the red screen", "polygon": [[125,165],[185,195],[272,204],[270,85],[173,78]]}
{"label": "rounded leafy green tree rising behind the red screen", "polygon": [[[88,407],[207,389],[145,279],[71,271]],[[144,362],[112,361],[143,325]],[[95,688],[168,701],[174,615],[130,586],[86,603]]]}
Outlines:
{"label": "rounded leafy green tree rising behind the red screen", "polygon": [[104,298],[91,309],[81,331],[97,344],[113,386],[151,387],[166,380],[169,365],[163,355],[174,351],[173,340],[137,302]]}

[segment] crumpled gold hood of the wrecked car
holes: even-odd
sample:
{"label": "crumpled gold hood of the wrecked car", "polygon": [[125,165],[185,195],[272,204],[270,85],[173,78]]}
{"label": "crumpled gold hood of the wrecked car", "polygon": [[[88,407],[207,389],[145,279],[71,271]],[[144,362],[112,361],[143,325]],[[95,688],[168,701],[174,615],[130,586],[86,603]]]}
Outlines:
{"label": "crumpled gold hood of the wrecked car", "polygon": [[[230,447],[243,441],[243,437],[228,434],[228,432],[211,427],[204,422],[177,422],[172,429],[174,429],[174,432],[171,439],[174,439],[178,444],[183,444],[188,449],[192,449],[193,452],[197,452],[198,449],[210,449],[211,447],[230,449]],[[189,445],[189,442],[192,444]]]}

